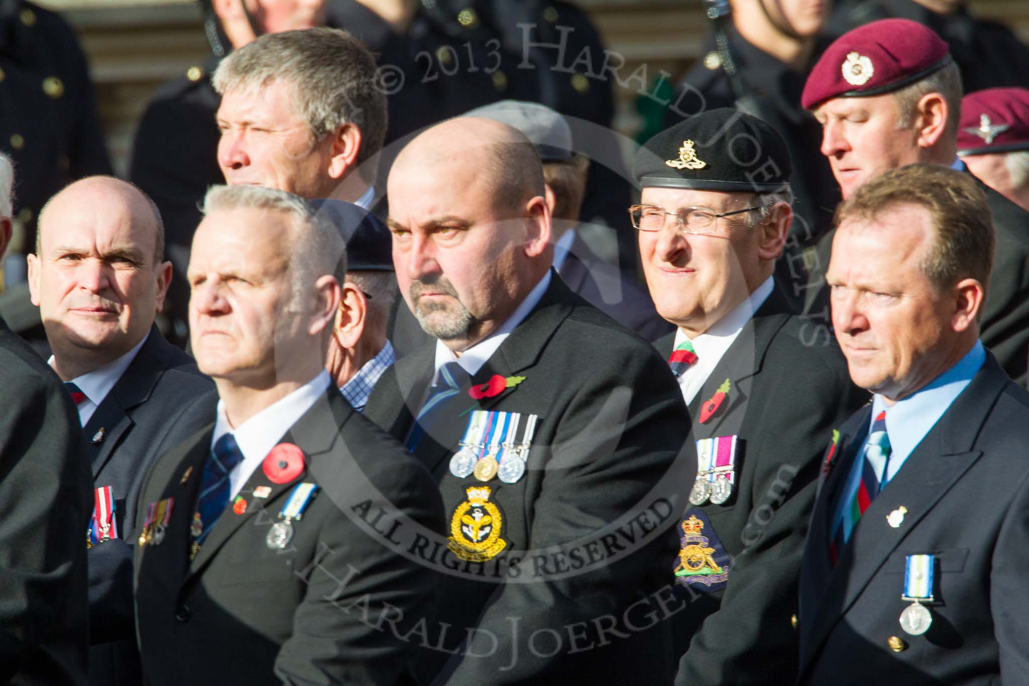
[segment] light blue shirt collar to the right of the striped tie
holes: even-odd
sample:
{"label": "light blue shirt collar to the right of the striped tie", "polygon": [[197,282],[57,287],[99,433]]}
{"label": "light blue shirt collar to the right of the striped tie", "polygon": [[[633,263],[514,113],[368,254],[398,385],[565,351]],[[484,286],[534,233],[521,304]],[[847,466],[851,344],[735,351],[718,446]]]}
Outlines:
{"label": "light blue shirt collar to the right of the striped tie", "polygon": [[977,340],[957,364],[903,400],[893,403],[892,407],[888,407],[883,397],[876,394],[868,419],[870,431],[879,413],[886,410],[886,433],[890,437],[891,455],[907,458],[968,386],[985,361],[986,349]]}

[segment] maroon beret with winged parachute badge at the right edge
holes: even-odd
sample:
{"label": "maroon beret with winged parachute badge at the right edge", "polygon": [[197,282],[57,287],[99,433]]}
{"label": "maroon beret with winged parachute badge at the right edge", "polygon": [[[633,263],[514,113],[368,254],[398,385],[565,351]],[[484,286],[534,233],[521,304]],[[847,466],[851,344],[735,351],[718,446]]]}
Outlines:
{"label": "maroon beret with winged parachute badge at the right edge", "polygon": [[1029,150],[1029,91],[987,88],[961,101],[958,154]]}

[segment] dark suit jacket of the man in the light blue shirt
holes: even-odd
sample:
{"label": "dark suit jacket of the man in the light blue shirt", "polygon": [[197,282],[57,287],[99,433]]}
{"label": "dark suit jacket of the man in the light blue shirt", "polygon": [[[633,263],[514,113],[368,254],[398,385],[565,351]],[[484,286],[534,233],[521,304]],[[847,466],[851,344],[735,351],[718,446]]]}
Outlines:
{"label": "dark suit jacket of the man in the light blue shirt", "polygon": [[[819,482],[801,571],[802,684],[963,686],[1029,683],[1029,393],[987,355],[983,368],[908,457],[851,534],[836,568],[828,527],[872,409],[840,428]],[[899,527],[887,515],[900,506]],[[936,556],[932,624],[898,623],[904,557]],[[903,649],[893,652],[887,640]]]}

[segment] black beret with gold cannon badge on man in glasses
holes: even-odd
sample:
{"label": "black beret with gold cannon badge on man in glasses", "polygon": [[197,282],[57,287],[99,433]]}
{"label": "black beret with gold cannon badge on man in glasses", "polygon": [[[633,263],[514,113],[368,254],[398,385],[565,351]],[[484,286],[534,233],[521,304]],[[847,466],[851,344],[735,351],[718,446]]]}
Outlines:
{"label": "black beret with gold cannon badge on man in glasses", "polygon": [[721,108],[695,114],[643,144],[640,187],[769,192],[789,184],[786,142],[755,116]]}

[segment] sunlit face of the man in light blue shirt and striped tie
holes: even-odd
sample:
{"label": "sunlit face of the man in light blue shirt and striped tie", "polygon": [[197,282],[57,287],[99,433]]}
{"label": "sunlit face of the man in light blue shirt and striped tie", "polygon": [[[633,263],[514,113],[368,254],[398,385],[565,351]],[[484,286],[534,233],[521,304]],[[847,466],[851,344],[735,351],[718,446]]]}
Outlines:
{"label": "sunlit face of the man in light blue shirt and striped tie", "polygon": [[943,369],[955,296],[937,292],[920,264],[934,234],[929,211],[899,206],[875,221],[845,220],[826,273],[832,326],[851,378],[898,400]]}

